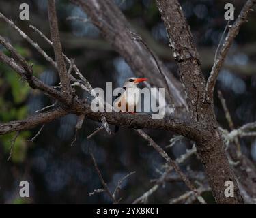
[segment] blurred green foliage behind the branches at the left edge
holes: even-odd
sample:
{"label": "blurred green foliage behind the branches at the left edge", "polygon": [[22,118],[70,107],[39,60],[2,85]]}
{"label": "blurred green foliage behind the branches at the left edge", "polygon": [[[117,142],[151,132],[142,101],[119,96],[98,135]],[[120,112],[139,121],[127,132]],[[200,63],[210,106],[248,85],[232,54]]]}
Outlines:
{"label": "blurred green foliage behind the branches at the left edge", "polygon": [[[21,46],[14,46],[14,48],[23,57],[31,59],[29,49]],[[10,52],[6,52],[6,50],[4,52],[5,55],[10,56]],[[32,63],[34,61],[29,62],[29,64]],[[33,64],[35,76],[38,72],[42,72],[43,69],[44,67],[42,65]],[[0,63],[0,75],[0,87],[2,88],[0,89],[0,122],[25,119],[28,115],[26,102],[31,88],[16,72],[3,63]],[[0,136],[0,142],[6,155],[10,153],[12,138],[15,135],[16,133],[10,133]],[[29,136],[31,136],[30,131],[22,131],[16,138],[12,151],[12,161],[14,163],[22,163],[25,160],[28,146],[27,139]]]}

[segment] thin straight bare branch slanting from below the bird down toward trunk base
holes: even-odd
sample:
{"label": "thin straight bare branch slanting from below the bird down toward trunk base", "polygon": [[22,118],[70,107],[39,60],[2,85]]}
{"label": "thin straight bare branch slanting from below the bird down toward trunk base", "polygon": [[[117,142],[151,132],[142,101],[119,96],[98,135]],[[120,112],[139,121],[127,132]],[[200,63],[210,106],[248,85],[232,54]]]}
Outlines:
{"label": "thin straight bare branch slanting from below the bird down toward trunk base", "polygon": [[182,172],[182,170],[180,170],[180,167],[177,165],[177,163],[175,161],[173,161],[169,155],[167,155],[167,153],[160,147],[158,146],[158,144],[156,144],[156,142],[154,142],[154,140],[152,140],[152,138],[150,138],[150,136],[148,136],[147,134],[145,134],[144,131],[142,130],[136,130],[139,135],[141,135],[145,140],[147,140],[148,142],[150,142],[150,145],[152,145],[154,147],[154,149],[156,149],[156,151],[158,151],[158,153],[165,159],[165,161],[167,161],[167,163],[173,167],[173,169],[177,172],[177,174],[180,175],[180,177],[182,178],[182,181],[184,181],[184,183],[187,185],[187,187],[193,191],[193,193],[195,194],[195,196],[197,197],[197,200],[199,200],[199,202],[201,204],[206,204],[205,200],[199,195],[197,189],[195,189],[194,185],[189,181],[188,177],[186,176],[186,174],[184,174],[184,172]]}

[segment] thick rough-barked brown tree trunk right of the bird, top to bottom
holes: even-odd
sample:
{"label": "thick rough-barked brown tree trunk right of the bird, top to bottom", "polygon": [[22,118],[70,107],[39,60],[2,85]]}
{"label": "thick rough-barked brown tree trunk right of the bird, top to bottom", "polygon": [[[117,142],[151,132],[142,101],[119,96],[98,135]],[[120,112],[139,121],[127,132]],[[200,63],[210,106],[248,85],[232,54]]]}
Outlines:
{"label": "thick rough-barked brown tree trunk right of the bird, top to bottom", "polygon": [[[182,7],[177,0],[156,2],[179,67],[191,119],[197,124],[197,152],[201,157],[214,198],[218,204],[241,204],[243,199],[223,149],[224,143],[218,131],[213,104],[205,103],[206,82],[201,73],[199,55]],[[226,198],[224,195],[225,181],[234,183],[233,198]]]}

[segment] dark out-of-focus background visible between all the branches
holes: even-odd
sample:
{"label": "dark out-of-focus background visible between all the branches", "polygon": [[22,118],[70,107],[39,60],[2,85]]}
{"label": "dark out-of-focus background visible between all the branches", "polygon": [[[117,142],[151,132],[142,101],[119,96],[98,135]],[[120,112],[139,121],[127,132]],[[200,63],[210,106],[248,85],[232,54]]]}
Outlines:
{"label": "dark out-of-focus background visible between all the branches", "polygon": [[[160,19],[156,4],[152,0],[115,1],[122,9],[132,27],[143,37],[145,42],[164,61],[169,69],[176,74],[177,68],[171,58],[167,33]],[[225,28],[225,3],[233,3],[238,16],[246,1],[211,1],[193,0],[180,1],[182,9],[194,35],[197,48],[201,55],[203,73],[207,77],[214,61],[214,52]],[[20,20],[18,9],[20,3],[28,3],[30,20]],[[38,27],[50,37],[47,16],[47,1],[3,1],[0,0],[0,12],[20,27],[35,42],[44,48],[48,55],[54,57],[53,49],[29,28],[29,24]],[[86,24],[77,20],[66,20],[68,16],[87,18],[78,7],[68,1],[57,1],[57,15],[63,52],[75,59],[76,65],[93,87],[105,89],[106,82],[113,82],[113,87],[119,87],[124,80],[133,75],[130,67],[111,46],[100,37],[98,29],[90,22]],[[240,33],[229,50],[221,74],[218,76],[216,90],[221,90],[236,127],[255,121],[256,102],[256,14],[251,13],[249,22],[242,26]],[[40,54],[34,50],[20,35],[4,22],[0,22],[0,34],[8,38],[12,45],[29,62],[33,63],[35,76],[50,85],[57,85],[57,72]],[[0,49],[3,49],[0,46]],[[77,89],[79,95],[85,95]],[[0,63],[0,122],[14,119],[25,119],[36,110],[53,104],[39,91],[30,89],[25,82],[10,68]],[[215,109],[221,126],[228,129],[227,121],[217,95]],[[136,171],[124,181],[120,197],[121,203],[131,203],[141,196],[154,183],[151,179],[158,178],[164,171],[163,159],[158,153],[147,146],[132,129],[120,129],[115,135],[109,136],[105,131],[87,140],[87,136],[101,124],[85,120],[79,131],[74,146],[76,116],[68,115],[52,123],[48,123],[34,142],[29,142],[40,129],[23,131],[18,136],[12,158],[7,161],[10,152],[10,140],[15,133],[0,136],[0,203],[1,204],[95,204],[111,203],[109,196],[96,193],[89,196],[94,189],[102,188],[102,184],[93,167],[89,148],[94,151],[96,161],[111,190],[115,189],[117,181]],[[166,131],[148,131],[148,134],[165,147],[172,138]],[[246,138],[241,140],[242,152],[256,161],[256,140]],[[191,147],[191,142],[183,139],[172,149],[166,149],[172,158],[180,157]],[[182,169],[190,166],[193,170],[202,170],[201,163],[194,155],[182,164]],[[29,181],[30,198],[20,198],[19,183]],[[150,198],[150,203],[167,204],[187,191],[184,183],[166,183]],[[208,202],[213,202],[210,193],[204,193]]]}

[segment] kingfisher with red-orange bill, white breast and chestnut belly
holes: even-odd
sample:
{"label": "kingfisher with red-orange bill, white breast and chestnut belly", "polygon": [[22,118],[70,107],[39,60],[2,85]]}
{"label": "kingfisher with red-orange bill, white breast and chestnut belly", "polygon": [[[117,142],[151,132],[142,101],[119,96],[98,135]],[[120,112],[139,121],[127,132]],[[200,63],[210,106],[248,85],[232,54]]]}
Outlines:
{"label": "kingfisher with red-orange bill, white breast and chestnut belly", "polygon": [[[135,114],[140,97],[140,90],[137,84],[145,81],[147,81],[147,78],[128,78],[123,84],[122,92],[119,92],[119,95],[115,98],[113,107],[121,112]],[[115,126],[115,132],[117,132],[118,129],[119,127]]]}

